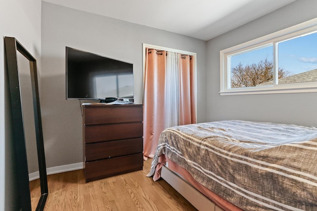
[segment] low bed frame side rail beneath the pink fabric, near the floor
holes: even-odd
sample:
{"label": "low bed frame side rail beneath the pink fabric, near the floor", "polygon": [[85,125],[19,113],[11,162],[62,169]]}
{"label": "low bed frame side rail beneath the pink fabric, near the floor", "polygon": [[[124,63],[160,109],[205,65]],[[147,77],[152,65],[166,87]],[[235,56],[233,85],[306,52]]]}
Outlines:
{"label": "low bed frame side rail beneath the pink fabric, near the floor", "polygon": [[160,176],[199,211],[223,211],[181,176],[163,166]]}

